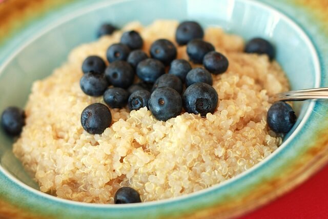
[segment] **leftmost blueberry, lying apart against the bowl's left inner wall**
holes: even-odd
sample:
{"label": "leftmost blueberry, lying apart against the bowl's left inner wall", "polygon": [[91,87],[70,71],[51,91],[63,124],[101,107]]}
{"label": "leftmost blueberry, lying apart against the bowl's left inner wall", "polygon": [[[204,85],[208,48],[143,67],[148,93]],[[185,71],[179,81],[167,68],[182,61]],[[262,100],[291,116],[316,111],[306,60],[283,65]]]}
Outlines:
{"label": "leftmost blueberry, lying apart against the bowl's left inner wall", "polygon": [[8,107],[1,115],[1,125],[7,134],[19,135],[25,125],[24,110],[18,107]]}

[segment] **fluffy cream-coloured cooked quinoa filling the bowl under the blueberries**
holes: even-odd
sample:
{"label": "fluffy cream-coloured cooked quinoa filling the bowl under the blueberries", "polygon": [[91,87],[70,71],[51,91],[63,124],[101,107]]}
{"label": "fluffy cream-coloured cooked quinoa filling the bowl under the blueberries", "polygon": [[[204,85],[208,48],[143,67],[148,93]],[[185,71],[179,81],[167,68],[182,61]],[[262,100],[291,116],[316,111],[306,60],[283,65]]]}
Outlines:
{"label": "fluffy cream-coloured cooked quinoa filling the bowl under the blueberries", "polygon": [[[53,74],[36,81],[26,105],[26,126],[13,146],[40,186],[58,197],[88,203],[113,203],[122,186],[136,189],[144,202],[208,188],[251,168],[281,144],[267,126],[270,94],[286,91],[288,80],[266,55],[243,53],[243,39],[217,27],[204,39],[229,59],[229,69],[213,75],[219,95],[214,114],[182,112],[157,121],[147,108],[111,109],[113,122],[103,134],[89,134],[80,115],[103,97],[81,91],[81,64],[89,55],[106,60],[106,50],[126,30],[139,31],[144,50],[158,38],[172,42],[178,22],[130,23],[111,36],[81,45]],[[186,46],[178,58],[188,60]],[[194,65],[195,66],[195,65]]]}

